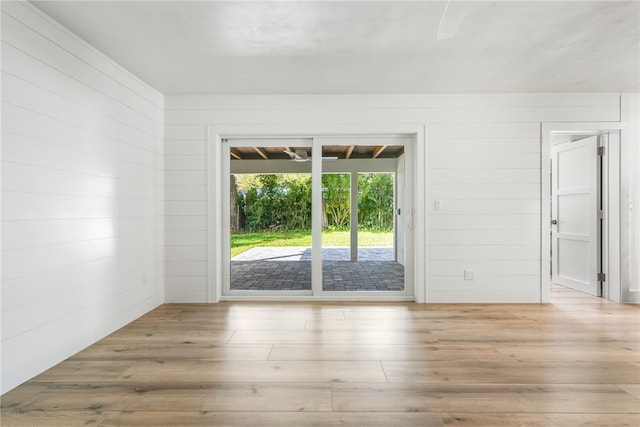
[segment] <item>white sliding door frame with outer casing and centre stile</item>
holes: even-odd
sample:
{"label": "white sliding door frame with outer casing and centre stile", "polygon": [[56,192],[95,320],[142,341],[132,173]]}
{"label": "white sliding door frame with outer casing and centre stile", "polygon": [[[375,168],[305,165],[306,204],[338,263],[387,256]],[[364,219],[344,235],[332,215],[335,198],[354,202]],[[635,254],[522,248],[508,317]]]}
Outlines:
{"label": "white sliding door frame with outer casing and centre stile", "polygon": [[[413,238],[412,248],[410,252],[411,263],[407,259],[407,267],[410,271],[405,270],[405,276],[410,278],[411,283],[405,279],[405,289],[412,287],[413,295],[385,295],[385,292],[323,292],[322,281],[318,283],[317,278],[313,280],[312,292],[299,295],[292,295],[289,291],[285,295],[275,295],[272,291],[260,291],[258,295],[243,293],[242,295],[233,294],[225,295],[223,290],[229,286],[229,277],[225,273],[225,262],[228,262],[230,254],[228,253],[229,242],[225,239],[229,238],[228,223],[225,223],[224,207],[228,208],[228,200],[224,198],[228,194],[229,183],[229,152],[228,145],[225,150],[225,139],[242,139],[242,138],[317,138],[319,141],[325,138],[358,138],[358,137],[380,137],[380,136],[404,136],[411,137],[409,152],[413,153],[413,157],[406,156],[406,162],[412,162],[410,167],[413,169],[412,200],[413,207],[407,212],[407,233]],[[208,190],[207,190],[207,242],[208,242],[208,301],[218,302],[221,300],[326,300],[326,301],[398,301],[398,300],[414,300],[416,302],[426,302],[427,298],[427,251],[426,251],[426,145],[425,145],[425,126],[422,124],[362,124],[362,125],[228,125],[228,126],[209,126],[208,127],[208,144],[207,144],[207,170],[208,170]],[[320,186],[322,179],[322,144],[312,144],[312,173],[320,170],[320,173],[313,173],[312,179],[320,180],[313,184],[314,188]],[[225,190],[226,189],[226,190]],[[320,198],[321,194],[316,194],[313,198]],[[321,199],[319,199],[321,202]],[[314,200],[318,203],[318,200]],[[223,207],[224,206],[224,207]],[[321,210],[314,209],[313,215],[321,215]],[[229,213],[226,213],[228,217]],[[321,220],[321,217],[320,217]],[[317,222],[318,218],[312,221]],[[228,222],[228,221],[227,221]],[[317,227],[317,225],[316,225]],[[313,246],[321,247],[320,232],[314,232]],[[318,245],[320,243],[320,245]],[[320,258],[318,258],[318,256]],[[407,257],[409,258],[409,257]],[[318,263],[321,254],[316,255],[312,261],[313,271],[317,272]],[[317,273],[313,273],[314,275]],[[321,275],[321,270],[319,272]],[[317,287],[320,289],[317,289]]]}

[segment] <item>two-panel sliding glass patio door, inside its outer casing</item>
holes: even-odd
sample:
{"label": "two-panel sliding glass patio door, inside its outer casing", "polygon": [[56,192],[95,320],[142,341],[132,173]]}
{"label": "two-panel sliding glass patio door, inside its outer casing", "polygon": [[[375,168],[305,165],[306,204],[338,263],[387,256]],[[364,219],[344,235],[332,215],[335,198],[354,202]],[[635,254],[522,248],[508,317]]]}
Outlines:
{"label": "two-panel sliding glass patio door, inside its outer casing", "polygon": [[223,139],[222,294],[410,299],[411,139],[388,139]]}

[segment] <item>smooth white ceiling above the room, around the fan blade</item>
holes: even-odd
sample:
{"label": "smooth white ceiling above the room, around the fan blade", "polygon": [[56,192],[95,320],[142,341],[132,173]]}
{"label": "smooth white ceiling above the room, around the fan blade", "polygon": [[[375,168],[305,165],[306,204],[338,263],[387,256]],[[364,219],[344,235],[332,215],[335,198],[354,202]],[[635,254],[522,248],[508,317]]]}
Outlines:
{"label": "smooth white ceiling above the room, around the fan blade", "polygon": [[165,94],[640,91],[640,2],[34,1]]}

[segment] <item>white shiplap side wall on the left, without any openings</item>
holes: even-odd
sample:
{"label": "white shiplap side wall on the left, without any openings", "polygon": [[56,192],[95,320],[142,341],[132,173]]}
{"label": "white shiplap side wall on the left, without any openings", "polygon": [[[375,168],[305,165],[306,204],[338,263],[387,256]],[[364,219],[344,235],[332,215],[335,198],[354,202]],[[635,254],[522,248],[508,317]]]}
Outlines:
{"label": "white shiplap side wall on the left, without any openings", "polygon": [[164,97],[2,2],[2,392],[164,301]]}

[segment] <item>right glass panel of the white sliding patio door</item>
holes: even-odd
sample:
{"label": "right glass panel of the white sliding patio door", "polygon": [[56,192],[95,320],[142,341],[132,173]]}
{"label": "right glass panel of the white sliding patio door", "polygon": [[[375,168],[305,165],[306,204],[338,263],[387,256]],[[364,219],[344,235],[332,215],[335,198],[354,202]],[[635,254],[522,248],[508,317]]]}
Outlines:
{"label": "right glass panel of the white sliding patio door", "polygon": [[322,291],[404,292],[396,176],[404,146],[322,147]]}

